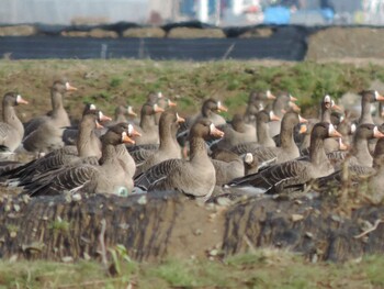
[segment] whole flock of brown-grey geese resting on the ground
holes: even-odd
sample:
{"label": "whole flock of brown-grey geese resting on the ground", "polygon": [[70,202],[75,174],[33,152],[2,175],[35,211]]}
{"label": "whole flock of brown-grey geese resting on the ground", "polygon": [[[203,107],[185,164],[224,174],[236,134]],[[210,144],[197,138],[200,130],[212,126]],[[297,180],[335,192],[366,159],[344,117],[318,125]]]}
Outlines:
{"label": "whole flock of brown-grey geese resting on the ground", "polygon": [[161,92],[149,93],[137,118],[132,107],[118,105],[115,118],[94,104],[84,107],[71,125],[64,105],[77,90],[65,80],[50,88],[52,111],[22,123],[15,112],[27,104],[8,92],[2,101],[1,155],[29,152],[29,163],[0,162],[2,186],[22,193],[112,193],[126,197],[176,190],[207,201],[236,193],[290,193],[308,184],[326,191],[341,186],[342,168],[359,184],[369,179],[377,193],[384,186],[384,134],[381,116],[371,114],[377,91],[361,91],[361,115],[352,118],[330,96],[319,115],[300,115],[297,99],[270,90],[251,92],[244,114],[226,121],[227,109],[215,99],[183,119],[177,104]]}

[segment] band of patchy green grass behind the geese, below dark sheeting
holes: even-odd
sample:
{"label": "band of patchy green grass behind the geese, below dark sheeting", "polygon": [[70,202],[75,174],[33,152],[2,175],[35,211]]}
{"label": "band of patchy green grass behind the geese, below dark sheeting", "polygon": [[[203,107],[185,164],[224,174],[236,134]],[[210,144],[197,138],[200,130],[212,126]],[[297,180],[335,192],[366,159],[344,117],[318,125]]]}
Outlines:
{"label": "band of patchy green grass behind the geese, below dark sheeting", "polygon": [[[298,98],[304,114],[329,93],[369,88],[373,80],[384,81],[384,69],[366,63],[317,64],[313,62],[239,62],[211,63],[154,60],[0,60],[0,93],[20,91],[34,107],[23,108],[25,118],[49,109],[49,86],[58,77],[70,80],[79,90],[66,99],[71,115],[81,115],[84,100],[92,101],[112,114],[117,104],[133,104],[136,111],[150,91],[162,91],[178,98],[180,110],[190,114],[199,110],[203,99],[224,101],[233,113],[244,112],[251,90],[284,90]],[[22,81],[21,81],[22,79]],[[37,102],[38,100],[38,102]]]}

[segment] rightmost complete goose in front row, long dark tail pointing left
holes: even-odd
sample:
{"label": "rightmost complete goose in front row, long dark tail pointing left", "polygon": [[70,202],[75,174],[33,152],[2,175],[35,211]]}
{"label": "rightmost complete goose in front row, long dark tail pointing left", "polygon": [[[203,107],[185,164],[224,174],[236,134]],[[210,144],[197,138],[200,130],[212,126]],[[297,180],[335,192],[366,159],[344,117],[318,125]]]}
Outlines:
{"label": "rightmost complete goose in front row, long dark tail pointing left", "polygon": [[280,193],[289,191],[291,186],[330,175],[334,173],[334,166],[329,163],[324,149],[324,140],[327,137],[340,137],[340,134],[330,123],[317,123],[312,131],[310,153],[307,159],[294,159],[274,165],[258,174],[235,179],[228,184],[228,187],[252,188],[259,193]]}

